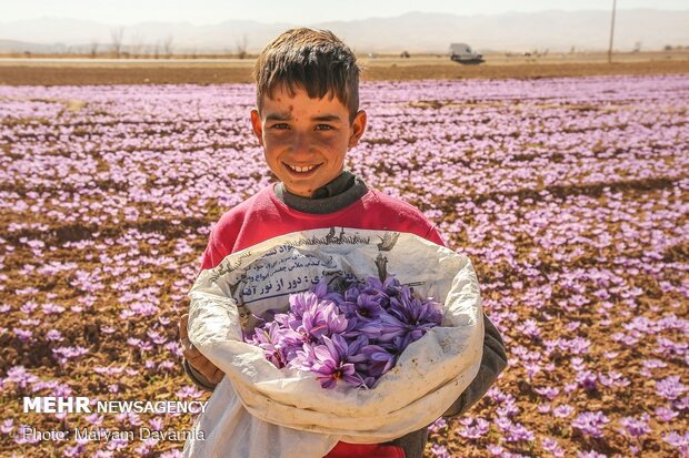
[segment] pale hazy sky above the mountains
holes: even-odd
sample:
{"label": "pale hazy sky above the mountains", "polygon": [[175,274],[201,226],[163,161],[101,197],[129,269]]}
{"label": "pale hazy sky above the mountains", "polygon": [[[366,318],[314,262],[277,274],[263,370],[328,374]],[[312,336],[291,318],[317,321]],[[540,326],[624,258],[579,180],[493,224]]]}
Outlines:
{"label": "pale hazy sky above the mountains", "polygon": [[[617,0],[618,9],[688,10],[689,0]],[[309,24],[399,16],[409,11],[497,14],[508,11],[610,10],[612,0],[0,0],[0,22],[42,17],[96,20],[218,23],[231,19]]]}

